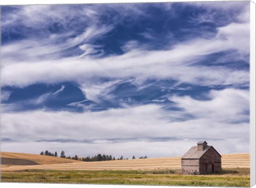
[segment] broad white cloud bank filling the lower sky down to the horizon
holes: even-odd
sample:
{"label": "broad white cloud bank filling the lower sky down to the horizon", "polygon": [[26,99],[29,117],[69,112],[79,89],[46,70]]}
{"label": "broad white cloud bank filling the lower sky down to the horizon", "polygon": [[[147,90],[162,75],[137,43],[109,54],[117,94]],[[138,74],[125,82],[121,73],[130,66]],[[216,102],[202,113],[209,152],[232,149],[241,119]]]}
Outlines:
{"label": "broad white cloud bank filling the lower sky down to the horizon", "polygon": [[[205,101],[189,97],[174,97],[175,104],[183,110],[172,112],[164,110],[161,105],[151,104],[101,112],[72,113],[35,110],[3,113],[1,134],[5,138],[18,140],[19,142],[15,142],[17,148],[23,146],[23,142],[35,142],[35,140],[75,139],[78,140],[77,146],[84,146],[91,153],[106,150],[106,153],[122,155],[121,151],[124,152],[127,149],[127,155],[138,155],[138,153],[142,155],[143,151],[145,155],[157,157],[182,155],[191,144],[205,139],[217,146],[222,153],[248,152],[249,147],[238,147],[234,144],[234,142],[243,142],[244,146],[249,146],[250,127],[247,122],[249,114],[245,114],[249,106],[248,92],[226,89],[211,91],[207,96],[210,99]],[[195,117],[184,119],[186,114],[192,114]],[[133,138],[131,139],[133,141],[129,138]],[[170,138],[170,140],[161,143],[163,141],[156,141],[154,138]],[[128,140],[118,142],[115,141],[116,139]],[[95,145],[97,144],[95,142],[82,143],[83,140],[105,141]],[[52,145],[54,141],[47,143],[49,146],[57,147],[57,144]],[[177,145],[178,143],[182,144],[182,149],[164,152],[163,146],[175,148],[175,146],[181,146]],[[41,146],[39,150],[44,150],[41,143],[35,144]],[[71,146],[71,143],[59,143],[58,148],[68,146]],[[155,152],[156,147],[163,150],[159,149],[159,152]],[[2,148],[13,149],[14,144],[3,142]],[[118,153],[115,148],[122,149]],[[26,150],[26,148],[18,150]],[[70,151],[75,152],[74,149]],[[76,151],[78,151],[77,148]],[[79,155],[82,154],[83,152]]]}

